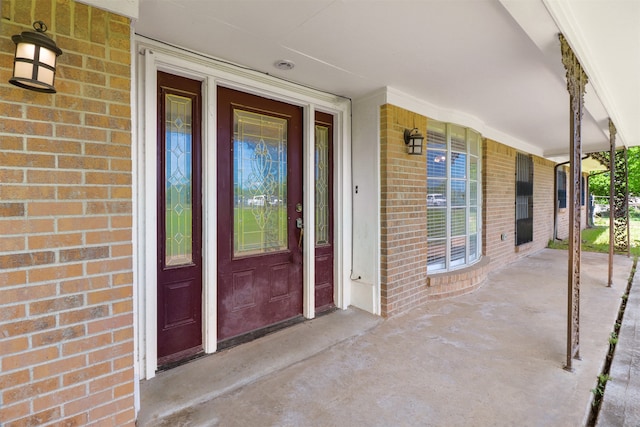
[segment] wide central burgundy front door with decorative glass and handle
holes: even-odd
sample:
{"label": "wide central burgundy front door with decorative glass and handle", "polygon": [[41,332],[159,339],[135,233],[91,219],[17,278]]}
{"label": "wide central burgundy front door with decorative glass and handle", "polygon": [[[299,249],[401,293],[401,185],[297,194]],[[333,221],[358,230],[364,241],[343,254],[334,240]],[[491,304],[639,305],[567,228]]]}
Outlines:
{"label": "wide central burgundy front door with decorative glass and handle", "polygon": [[302,109],[218,89],[218,340],[302,313]]}

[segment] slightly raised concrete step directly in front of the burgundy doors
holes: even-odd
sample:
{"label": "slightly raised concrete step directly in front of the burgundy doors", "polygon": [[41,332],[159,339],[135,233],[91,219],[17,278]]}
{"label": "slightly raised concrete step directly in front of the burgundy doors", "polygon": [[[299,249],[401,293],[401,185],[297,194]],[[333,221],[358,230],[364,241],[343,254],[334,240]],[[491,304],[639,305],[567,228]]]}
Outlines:
{"label": "slightly raised concrete step directly in front of the burgundy doors", "polygon": [[294,365],[381,322],[358,309],[337,311],[161,372],[140,382],[138,426],[158,425],[159,419]]}

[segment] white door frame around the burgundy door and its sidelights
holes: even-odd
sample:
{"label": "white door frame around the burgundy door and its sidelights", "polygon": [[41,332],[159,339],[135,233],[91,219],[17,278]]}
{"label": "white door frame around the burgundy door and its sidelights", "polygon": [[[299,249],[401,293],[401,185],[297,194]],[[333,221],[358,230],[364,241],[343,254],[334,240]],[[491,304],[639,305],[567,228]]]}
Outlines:
{"label": "white door frame around the burgundy door and its sidelights", "polygon": [[[152,378],[157,369],[157,72],[202,81],[202,191],[203,191],[203,347],[216,351],[217,253],[216,253],[216,91],[218,86],[242,90],[303,108],[303,203],[314,206],[315,111],[334,116],[334,301],[345,309],[350,303],[351,271],[351,104],[348,99],[315,91],[263,73],[235,67],[201,55],[137,38],[136,89],[138,140],[134,195],[138,215],[134,233],[137,245],[138,336],[135,340],[141,378]],[[149,125],[147,125],[149,124]],[[314,223],[314,209],[303,212],[305,224]],[[315,316],[314,227],[306,227],[303,247],[303,315]]]}

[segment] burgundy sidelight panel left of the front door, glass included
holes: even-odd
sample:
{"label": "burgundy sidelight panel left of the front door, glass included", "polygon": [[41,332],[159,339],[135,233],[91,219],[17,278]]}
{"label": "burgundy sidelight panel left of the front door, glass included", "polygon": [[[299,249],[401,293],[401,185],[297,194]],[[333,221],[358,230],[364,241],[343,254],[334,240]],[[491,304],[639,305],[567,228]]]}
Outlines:
{"label": "burgundy sidelight panel left of the front door, glass included", "polygon": [[200,89],[158,72],[158,366],[202,351]]}

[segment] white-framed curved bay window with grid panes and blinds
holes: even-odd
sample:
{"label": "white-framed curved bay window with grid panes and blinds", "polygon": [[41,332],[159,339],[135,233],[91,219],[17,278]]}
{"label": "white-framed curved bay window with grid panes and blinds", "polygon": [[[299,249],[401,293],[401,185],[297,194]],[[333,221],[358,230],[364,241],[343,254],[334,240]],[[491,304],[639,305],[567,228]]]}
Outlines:
{"label": "white-framed curved bay window with grid panes and blinds", "polygon": [[430,120],[427,126],[427,271],[480,258],[480,134]]}

